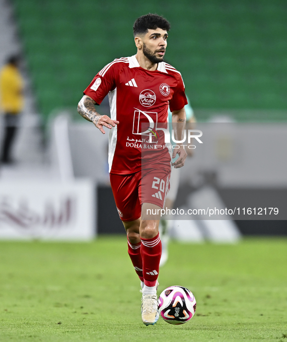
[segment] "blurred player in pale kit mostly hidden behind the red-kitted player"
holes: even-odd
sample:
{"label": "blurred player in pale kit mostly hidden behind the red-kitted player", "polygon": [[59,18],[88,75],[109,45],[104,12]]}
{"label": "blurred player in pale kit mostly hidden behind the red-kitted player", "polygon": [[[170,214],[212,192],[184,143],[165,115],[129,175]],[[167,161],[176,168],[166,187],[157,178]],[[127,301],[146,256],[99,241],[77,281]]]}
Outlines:
{"label": "blurred player in pale kit mostly hidden behind the red-kitted player", "polygon": [[[186,96],[188,104],[185,106],[186,110],[186,129],[193,129],[193,124],[195,123],[195,118],[193,114],[193,109],[189,105],[189,99]],[[171,131],[172,131],[172,114],[169,110],[169,133],[170,133],[170,139],[172,139]],[[191,157],[193,154],[193,149],[186,148],[186,153],[188,157]],[[175,162],[176,158],[172,159],[172,162]],[[166,203],[165,203],[165,209],[173,209],[173,204],[177,196],[178,192],[178,187],[179,187],[179,182],[180,182],[180,169],[179,168],[171,168],[171,175],[170,175],[170,188],[169,192],[166,198]],[[168,251],[168,246],[169,246],[169,235],[172,230],[173,226],[173,220],[171,219],[172,217],[165,217],[160,220],[159,223],[159,232],[161,236],[161,243],[162,243],[162,254],[161,254],[161,259],[160,259],[160,264],[159,266],[162,267],[166,264],[168,257],[169,257],[169,251]]]}

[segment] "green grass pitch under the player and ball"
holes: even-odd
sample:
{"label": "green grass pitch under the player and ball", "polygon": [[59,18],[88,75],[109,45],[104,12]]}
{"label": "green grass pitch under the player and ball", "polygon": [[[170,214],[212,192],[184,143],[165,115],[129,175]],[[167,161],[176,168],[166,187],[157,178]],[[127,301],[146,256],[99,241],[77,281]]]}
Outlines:
{"label": "green grass pitch under the player and ball", "polygon": [[0,342],[287,342],[287,239],[170,243],[158,293],[189,288],[195,316],[174,326],[140,317],[124,236],[91,243],[0,242]]}

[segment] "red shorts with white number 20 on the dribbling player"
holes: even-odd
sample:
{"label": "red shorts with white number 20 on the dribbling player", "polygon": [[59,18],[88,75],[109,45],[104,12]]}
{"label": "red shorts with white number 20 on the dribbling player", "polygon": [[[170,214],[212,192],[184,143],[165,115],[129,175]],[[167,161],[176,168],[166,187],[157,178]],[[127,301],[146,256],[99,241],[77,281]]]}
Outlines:
{"label": "red shorts with white number 20 on the dribbling player", "polygon": [[111,186],[122,221],[141,216],[141,205],[152,203],[163,208],[169,192],[170,168],[146,169],[130,175],[111,173]]}

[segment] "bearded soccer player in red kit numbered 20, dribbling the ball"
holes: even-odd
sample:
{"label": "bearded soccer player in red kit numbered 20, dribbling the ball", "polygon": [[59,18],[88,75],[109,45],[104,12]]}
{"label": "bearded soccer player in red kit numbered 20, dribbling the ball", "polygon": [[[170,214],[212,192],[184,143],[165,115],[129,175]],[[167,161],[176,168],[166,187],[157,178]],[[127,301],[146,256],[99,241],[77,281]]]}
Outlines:
{"label": "bearded soccer player in red kit numbered 20, dribbling the ball", "polygon": [[[136,54],[115,59],[98,72],[84,90],[78,112],[101,133],[105,134],[103,127],[110,129],[110,181],[127,232],[128,253],[141,281],[142,321],[149,325],[159,318],[156,289],[161,240],[159,216],[146,214],[148,209],[158,213],[164,207],[171,170],[164,131],[159,126],[167,128],[170,108],[174,137],[181,140],[187,100],[180,72],[163,61],[169,21],[147,14],[136,19],[133,29]],[[111,118],[95,109],[107,94]],[[143,128],[147,123],[148,128]],[[176,154],[179,158],[172,165],[182,167],[187,156],[184,146],[174,150],[173,157]]]}

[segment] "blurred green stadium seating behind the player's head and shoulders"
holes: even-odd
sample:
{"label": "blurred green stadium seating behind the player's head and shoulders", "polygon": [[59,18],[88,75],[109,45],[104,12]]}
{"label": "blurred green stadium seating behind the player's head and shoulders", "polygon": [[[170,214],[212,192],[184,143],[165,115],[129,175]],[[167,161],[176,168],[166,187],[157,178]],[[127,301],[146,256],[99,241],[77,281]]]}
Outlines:
{"label": "blurred green stadium seating behind the player's head and shoulders", "polygon": [[167,60],[195,110],[276,109],[262,120],[287,120],[287,1],[13,2],[44,119],[57,106],[76,108],[98,71],[135,54],[132,25],[151,12],[170,20]]}

